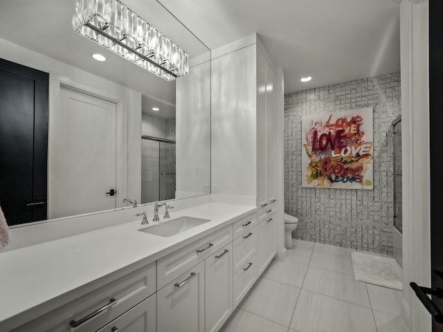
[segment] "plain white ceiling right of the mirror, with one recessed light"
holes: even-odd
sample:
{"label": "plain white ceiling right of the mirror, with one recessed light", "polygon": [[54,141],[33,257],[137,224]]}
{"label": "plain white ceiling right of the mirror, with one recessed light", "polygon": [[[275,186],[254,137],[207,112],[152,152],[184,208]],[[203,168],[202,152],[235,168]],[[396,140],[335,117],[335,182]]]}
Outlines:
{"label": "plain white ceiling right of the mirror, with one recessed light", "polygon": [[160,1],[211,50],[258,33],[285,93],[400,70],[401,0]]}

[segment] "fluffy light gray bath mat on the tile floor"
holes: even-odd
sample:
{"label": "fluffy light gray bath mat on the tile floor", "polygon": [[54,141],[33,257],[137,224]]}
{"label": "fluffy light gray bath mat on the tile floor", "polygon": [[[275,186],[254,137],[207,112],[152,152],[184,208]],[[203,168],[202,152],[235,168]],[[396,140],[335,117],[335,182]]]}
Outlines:
{"label": "fluffy light gray bath mat on the tile floor", "polygon": [[377,286],[403,289],[401,267],[393,258],[352,252],[352,267],[355,279]]}

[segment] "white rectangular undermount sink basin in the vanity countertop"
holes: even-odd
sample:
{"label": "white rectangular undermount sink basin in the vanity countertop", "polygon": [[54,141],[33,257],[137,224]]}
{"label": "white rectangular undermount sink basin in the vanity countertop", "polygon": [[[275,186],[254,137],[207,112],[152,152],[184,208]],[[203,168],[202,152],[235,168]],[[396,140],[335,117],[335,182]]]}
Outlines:
{"label": "white rectangular undermount sink basin in the vanity countertop", "polygon": [[162,221],[159,225],[143,228],[140,232],[158,235],[159,237],[172,237],[185,230],[190,230],[201,224],[210,221],[210,219],[194,218],[192,216],[181,216],[177,219]]}

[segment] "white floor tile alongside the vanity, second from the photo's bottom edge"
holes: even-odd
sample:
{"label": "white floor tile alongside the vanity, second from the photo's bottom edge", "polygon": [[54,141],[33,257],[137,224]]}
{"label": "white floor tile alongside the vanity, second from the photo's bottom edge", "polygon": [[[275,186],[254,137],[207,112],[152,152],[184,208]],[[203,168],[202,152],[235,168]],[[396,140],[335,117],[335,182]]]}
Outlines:
{"label": "white floor tile alongside the vanity, second from the photo's bottom edge", "polygon": [[278,324],[289,326],[300,288],[260,278],[241,308]]}

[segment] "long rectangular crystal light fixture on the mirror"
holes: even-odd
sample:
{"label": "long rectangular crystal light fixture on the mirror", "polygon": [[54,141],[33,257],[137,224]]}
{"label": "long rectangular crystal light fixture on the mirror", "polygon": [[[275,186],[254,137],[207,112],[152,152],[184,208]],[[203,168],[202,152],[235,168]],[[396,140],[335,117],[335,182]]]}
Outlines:
{"label": "long rectangular crystal light fixture on the mirror", "polygon": [[188,53],[118,0],[75,0],[75,31],[167,81],[189,71]]}

